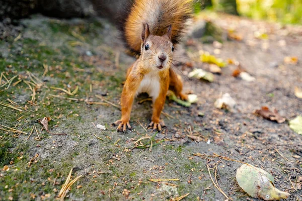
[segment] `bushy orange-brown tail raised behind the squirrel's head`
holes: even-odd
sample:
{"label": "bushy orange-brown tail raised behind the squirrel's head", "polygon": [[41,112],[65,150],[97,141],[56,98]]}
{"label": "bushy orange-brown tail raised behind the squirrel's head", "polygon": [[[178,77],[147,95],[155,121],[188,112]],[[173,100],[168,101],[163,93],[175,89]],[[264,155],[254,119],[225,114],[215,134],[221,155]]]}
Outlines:
{"label": "bushy orange-brown tail raised behind the squirrel's head", "polygon": [[172,42],[178,43],[187,21],[192,17],[197,0],[134,0],[121,25],[127,46],[140,52],[143,24],[148,23],[152,35],[166,34],[172,25]]}

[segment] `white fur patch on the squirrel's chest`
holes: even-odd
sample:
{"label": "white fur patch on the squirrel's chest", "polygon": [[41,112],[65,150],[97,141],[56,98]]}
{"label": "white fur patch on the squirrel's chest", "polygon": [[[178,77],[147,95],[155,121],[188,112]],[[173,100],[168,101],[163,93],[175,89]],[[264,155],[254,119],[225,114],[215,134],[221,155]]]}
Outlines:
{"label": "white fur patch on the squirrel's chest", "polygon": [[136,95],[146,92],[150,97],[155,100],[160,93],[160,77],[158,73],[150,72],[146,74],[140,82]]}

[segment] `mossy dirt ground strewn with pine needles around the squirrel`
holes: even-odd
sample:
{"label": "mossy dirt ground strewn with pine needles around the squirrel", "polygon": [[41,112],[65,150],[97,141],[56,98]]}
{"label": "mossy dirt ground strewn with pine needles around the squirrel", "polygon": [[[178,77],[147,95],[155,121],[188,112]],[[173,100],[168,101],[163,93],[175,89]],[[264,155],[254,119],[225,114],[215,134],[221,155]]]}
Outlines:
{"label": "mossy dirt ground strewn with pine needles around the squirrel", "polygon": [[[111,126],[121,115],[111,104],[119,105],[125,72],[134,58],[125,53],[117,30],[103,19],[37,15],[22,20],[17,37],[0,41],[0,71],[8,79],[17,75],[9,87],[0,88],[0,102],[22,110],[1,106],[0,124],[27,133],[0,130],[0,200],[58,199],[71,168],[71,179],[82,177],[67,191],[66,200],[173,200],[187,193],[183,200],[224,200],[207,169],[214,176],[217,162],[217,182],[230,199],[260,200],[237,184],[240,163],[194,153],[253,164],[271,173],[277,188],[290,192],[287,200],[302,200],[302,191],[291,185],[302,171],[302,136],[287,121],[277,124],[253,114],[267,106],[286,120],[302,115],[302,99],[294,95],[295,86],[302,88],[302,27],[207,16],[222,30],[218,39],[186,37],[174,57],[184,91],[197,94],[198,103],[185,108],[167,99],[162,115],[167,127],[162,133],[146,132],[152,107],[148,101],[138,104],[146,98],[139,96],[131,113],[133,130],[125,134]],[[233,77],[234,64],[222,68],[213,82],[188,78],[188,66],[209,70],[198,59],[200,50],[238,61],[256,81]],[[284,62],[287,56],[298,62]],[[6,83],[4,76],[2,80],[0,86]],[[53,87],[70,89],[70,95]],[[236,100],[234,112],[214,107],[224,93]],[[51,118],[51,133],[66,135],[43,130],[39,120],[44,117]],[[152,136],[142,140],[146,148],[133,145],[146,135]],[[199,142],[187,135],[198,136]]]}

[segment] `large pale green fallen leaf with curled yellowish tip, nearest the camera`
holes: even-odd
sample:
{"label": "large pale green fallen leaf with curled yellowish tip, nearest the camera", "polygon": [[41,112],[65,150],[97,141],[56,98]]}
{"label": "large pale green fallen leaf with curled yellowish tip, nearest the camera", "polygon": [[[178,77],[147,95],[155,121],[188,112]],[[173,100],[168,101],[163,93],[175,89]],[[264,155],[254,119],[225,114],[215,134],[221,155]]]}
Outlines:
{"label": "large pale green fallen leaf with curled yellowish tip, nearest the camera", "polygon": [[250,196],[264,200],[286,199],[288,192],[274,187],[274,177],[263,169],[243,164],[237,169],[236,180]]}

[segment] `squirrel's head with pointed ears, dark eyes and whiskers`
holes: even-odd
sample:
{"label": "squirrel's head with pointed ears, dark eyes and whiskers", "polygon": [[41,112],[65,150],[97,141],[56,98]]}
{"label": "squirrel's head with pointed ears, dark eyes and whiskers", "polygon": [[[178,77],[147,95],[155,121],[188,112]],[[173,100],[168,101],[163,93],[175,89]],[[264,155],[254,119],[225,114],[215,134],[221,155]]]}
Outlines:
{"label": "squirrel's head with pointed ears, dark eyes and whiskers", "polygon": [[141,60],[156,70],[169,68],[174,51],[171,37],[171,25],[168,27],[165,35],[154,36],[150,35],[149,25],[144,24],[141,33]]}

